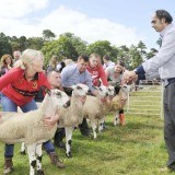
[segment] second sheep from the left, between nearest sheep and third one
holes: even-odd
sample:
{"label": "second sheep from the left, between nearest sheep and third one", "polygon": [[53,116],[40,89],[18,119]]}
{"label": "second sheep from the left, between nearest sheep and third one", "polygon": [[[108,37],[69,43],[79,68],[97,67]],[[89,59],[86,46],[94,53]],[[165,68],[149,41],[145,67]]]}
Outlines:
{"label": "second sheep from the left, between nearest sheep and third one", "polygon": [[85,84],[72,85],[72,97],[70,106],[58,110],[58,127],[66,129],[66,156],[71,158],[71,141],[73,128],[83,120],[83,105],[85,103],[89,88]]}

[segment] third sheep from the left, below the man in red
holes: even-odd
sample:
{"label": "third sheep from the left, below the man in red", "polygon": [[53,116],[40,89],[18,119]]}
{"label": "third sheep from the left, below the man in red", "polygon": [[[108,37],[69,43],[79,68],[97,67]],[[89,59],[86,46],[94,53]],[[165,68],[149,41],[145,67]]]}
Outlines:
{"label": "third sheep from the left, below the man in red", "polygon": [[97,88],[97,96],[86,96],[85,104],[83,106],[84,117],[90,119],[94,139],[96,139],[96,129],[100,126],[100,122],[104,119],[106,114],[106,105],[108,105],[108,90],[106,86]]}

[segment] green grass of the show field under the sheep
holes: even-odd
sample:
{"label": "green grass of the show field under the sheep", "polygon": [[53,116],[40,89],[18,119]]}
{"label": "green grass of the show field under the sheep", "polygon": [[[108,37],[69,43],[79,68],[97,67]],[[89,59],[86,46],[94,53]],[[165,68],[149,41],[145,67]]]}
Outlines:
{"label": "green grass of the show field under the sheep", "polygon": [[[167,153],[163,140],[163,121],[159,117],[126,116],[126,127],[114,127],[108,116],[108,130],[96,140],[82,137],[77,129],[73,133],[72,159],[65,151],[56,149],[63,159],[66,170],[54,167],[46,152],[43,168],[46,175],[167,175],[160,168],[165,166]],[[0,174],[3,171],[3,143],[0,143]],[[28,174],[28,160],[20,155],[15,144],[13,175]]]}

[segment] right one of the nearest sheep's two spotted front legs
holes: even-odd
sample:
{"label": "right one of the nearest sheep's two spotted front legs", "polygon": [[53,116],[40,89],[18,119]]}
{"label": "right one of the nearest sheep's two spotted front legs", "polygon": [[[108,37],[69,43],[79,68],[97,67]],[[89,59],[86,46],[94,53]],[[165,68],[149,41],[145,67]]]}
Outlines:
{"label": "right one of the nearest sheep's two spotted front legs", "polygon": [[42,143],[36,145],[36,165],[37,165],[37,174],[38,175],[44,175],[44,172],[42,170]]}

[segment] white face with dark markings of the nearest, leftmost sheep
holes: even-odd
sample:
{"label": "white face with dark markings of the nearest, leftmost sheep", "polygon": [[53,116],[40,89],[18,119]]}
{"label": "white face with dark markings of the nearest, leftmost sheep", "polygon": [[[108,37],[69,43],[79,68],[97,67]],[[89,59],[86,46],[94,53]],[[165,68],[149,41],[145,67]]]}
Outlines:
{"label": "white face with dark markings of the nearest, leftmost sheep", "polygon": [[50,96],[57,106],[67,106],[69,102],[69,96],[60,90],[51,90]]}

